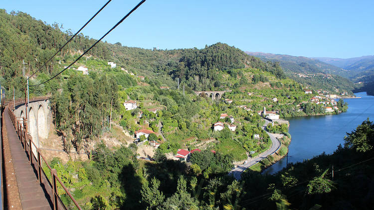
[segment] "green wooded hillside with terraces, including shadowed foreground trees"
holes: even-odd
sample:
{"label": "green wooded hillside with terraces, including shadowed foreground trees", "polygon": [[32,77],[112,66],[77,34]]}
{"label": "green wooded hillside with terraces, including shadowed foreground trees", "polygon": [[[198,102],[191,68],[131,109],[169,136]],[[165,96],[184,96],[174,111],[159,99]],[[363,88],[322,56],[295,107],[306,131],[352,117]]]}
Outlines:
{"label": "green wooded hillside with terraces, including shadowed foreground trees", "polygon": [[[7,99],[12,98],[13,88],[15,98],[23,99],[25,77],[42,67],[72,35],[58,23],[48,25],[23,12],[0,9],[0,83]],[[254,157],[271,146],[262,129],[265,120],[258,114],[264,107],[281,118],[339,114],[348,108],[343,100],[327,113],[327,105],[311,101],[318,95],[316,90],[306,94],[306,86],[288,78],[278,63],[263,62],[224,43],[158,50],[99,42],[70,69],[39,85],[95,41],[79,34],[29,78],[30,98],[49,97],[53,134],[61,139],[61,149],[87,157],[49,160],[82,209],[341,209],[373,202],[370,162],[354,165],[373,155],[374,127],[369,119],[348,134],[344,147],[332,155],[291,164],[273,176],[248,170],[237,181],[227,175],[234,162],[242,163],[248,154]],[[117,66],[112,68],[108,62]],[[88,75],[77,71],[82,66]],[[194,91],[222,94],[213,100]],[[124,103],[129,100],[137,107],[127,110]],[[216,122],[224,128],[215,131]],[[231,125],[236,129],[230,130]],[[142,143],[136,144],[134,135],[140,129],[152,134],[148,139],[142,135]],[[282,142],[290,140],[285,124],[270,124],[267,130],[284,134]],[[108,146],[105,136],[120,143]],[[139,149],[151,141],[160,145],[153,156],[141,159]],[[284,156],[287,145],[283,148],[281,155],[274,156]],[[179,149],[200,151],[185,163],[170,157]],[[268,165],[274,156],[257,165]],[[332,165],[342,171],[334,180]],[[47,167],[43,170],[50,174]],[[355,187],[359,175],[363,191]],[[66,207],[74,209],[65,191],[59,187],[58,192]],[[364,196],[368,199],[358,199]]]}

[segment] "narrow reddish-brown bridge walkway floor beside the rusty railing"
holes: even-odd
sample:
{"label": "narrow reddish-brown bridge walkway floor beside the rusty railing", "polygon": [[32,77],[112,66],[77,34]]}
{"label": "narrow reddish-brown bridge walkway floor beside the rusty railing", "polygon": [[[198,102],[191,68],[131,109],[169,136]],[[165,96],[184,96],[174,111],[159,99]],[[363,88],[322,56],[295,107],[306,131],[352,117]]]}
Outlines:
{"label": "narrow reddish-brown bridge walkway floor beside the rusty railing", "polygon": [[14,166],[14,172],[17,180],[19,196],[23,210],[48,210],[53,208],[51,193],[52,189],[48,181],[42,176],[42,184],[39,184],[37,179],[37,166],[34,165],[37,161],[33,160],[33,164],[28,161],[28,156],[25,153],[21,142],[18,139],[17,133],[11,123],[7,112],[3,115],[4,126],[7,130],[7,138],[9,141],[9,148]]}

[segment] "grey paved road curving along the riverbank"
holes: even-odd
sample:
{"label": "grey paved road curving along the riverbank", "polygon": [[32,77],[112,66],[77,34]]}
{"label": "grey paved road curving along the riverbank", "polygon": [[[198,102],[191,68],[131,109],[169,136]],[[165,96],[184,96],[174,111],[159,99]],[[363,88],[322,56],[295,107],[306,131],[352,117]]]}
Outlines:
{"label": "grey paved road curving along the riverbank", "polygon": [[[262,129],[265,130],[265,127],[268,123],[270,123],[270,121],[266,120],[264,126],[262,126]],[[273,144],[271,146],[271,148],[266,150],[265,152],[259,154],[258,156],[254,157],[254,158],[248,157],[248,159],[247,159],[248,163],[247,164],[238,165],[236,168],[234,168],[232,171],[230,171],[230,173],[228,173],[228,175],[233,175],[236,180],[240,180],[241,179],[240,175],[241,175],[241,173],[243,173],[243,171],[245,171],[248,167],[253,166],[254,164],[258,163],[259,161],[266,158],[267,156],[273,154],[274,152],[276,152],[280,148],[280,142],[278,141],[278,139],[276,139],[275,136],[273,136],[271,133],[269,133],[267,131],[266,131],[266,133],[270,136],[271,142]]]}

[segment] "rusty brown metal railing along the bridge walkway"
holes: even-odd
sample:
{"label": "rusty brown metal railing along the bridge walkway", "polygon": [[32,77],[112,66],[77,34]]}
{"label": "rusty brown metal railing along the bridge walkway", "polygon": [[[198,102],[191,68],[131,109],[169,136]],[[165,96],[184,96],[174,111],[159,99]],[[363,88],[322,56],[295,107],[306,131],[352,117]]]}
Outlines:
{"label": "rusty brown metal railing along the bridge walkway", "polygon": [[[20,104],[19,102],[17,103],[18,105]],[[71,201],[74,203],[75,207],[78,210],[81,210],[79,204],[75,201],[73,196],[69,193],[68,189],[65,187],[64,183],[61,181],[61,179],[57,176],[57,171],[56,169],[52,169],[49,164],[47,163],[46,159],[44,156],[40,153],[40,149],[35,145],[35,143],[32,141],[31,135],[27,133],[27,123],[25,118],[21,117],[16,117],[12,111],[13,109],[13,104],[9,103],[7,106],[8,109],[8,114],[11,119],[11,122],[14,126],[14,129],[18,135],[19,140],[21,141],[22,147],[24,151],[28,155],[28,160],[30,164],[32,164],[33,161],[36,160],[36,171],[37,171],[37,179],[39,180],[39,183],[42,184],[42,176],[41,174],[44,174],[44,177],[49,184],[49,186],[52,189],[52,203],[53,203],[53,210],[58,210],[59,207],[62,207],[64,210],[67,210],[63,202],[61,201],[60,197],[58,196],[58,191],[57,191],[57,182],[58,181],[63,188],[63,190],[66,192],[66,195],[71,199]],[[18,120],[17,118],[21,118],[21,120]],[[36,150],[36,154],[32,151],[32,145],[34,146]],[[34,159],[34,160],[33,160]],[[48,167],[51,173],[51,181],[48,179],[47,175],[45,174],[43,168],[42,168],[42,162]],[[34,164],[35,165],[35,164]]]}

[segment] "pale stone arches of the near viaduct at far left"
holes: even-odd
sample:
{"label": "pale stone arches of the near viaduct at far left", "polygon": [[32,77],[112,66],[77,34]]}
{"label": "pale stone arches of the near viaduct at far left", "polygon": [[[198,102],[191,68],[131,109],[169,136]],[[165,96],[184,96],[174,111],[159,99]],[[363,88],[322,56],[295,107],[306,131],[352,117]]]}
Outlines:
{"label": "pale stone arches of the near viaduct at far left", "polygon": [[[26,123],[29,134],[34,143],[39,147],[39,138],[48,138],[49,128],[52,126],[52,111],[49,108],[48,98],[34,99],[29,101],[27,107],[28,123]],[[23,125],[23,117],[26,117],[25,105],[16,103],[14,114]]]}

